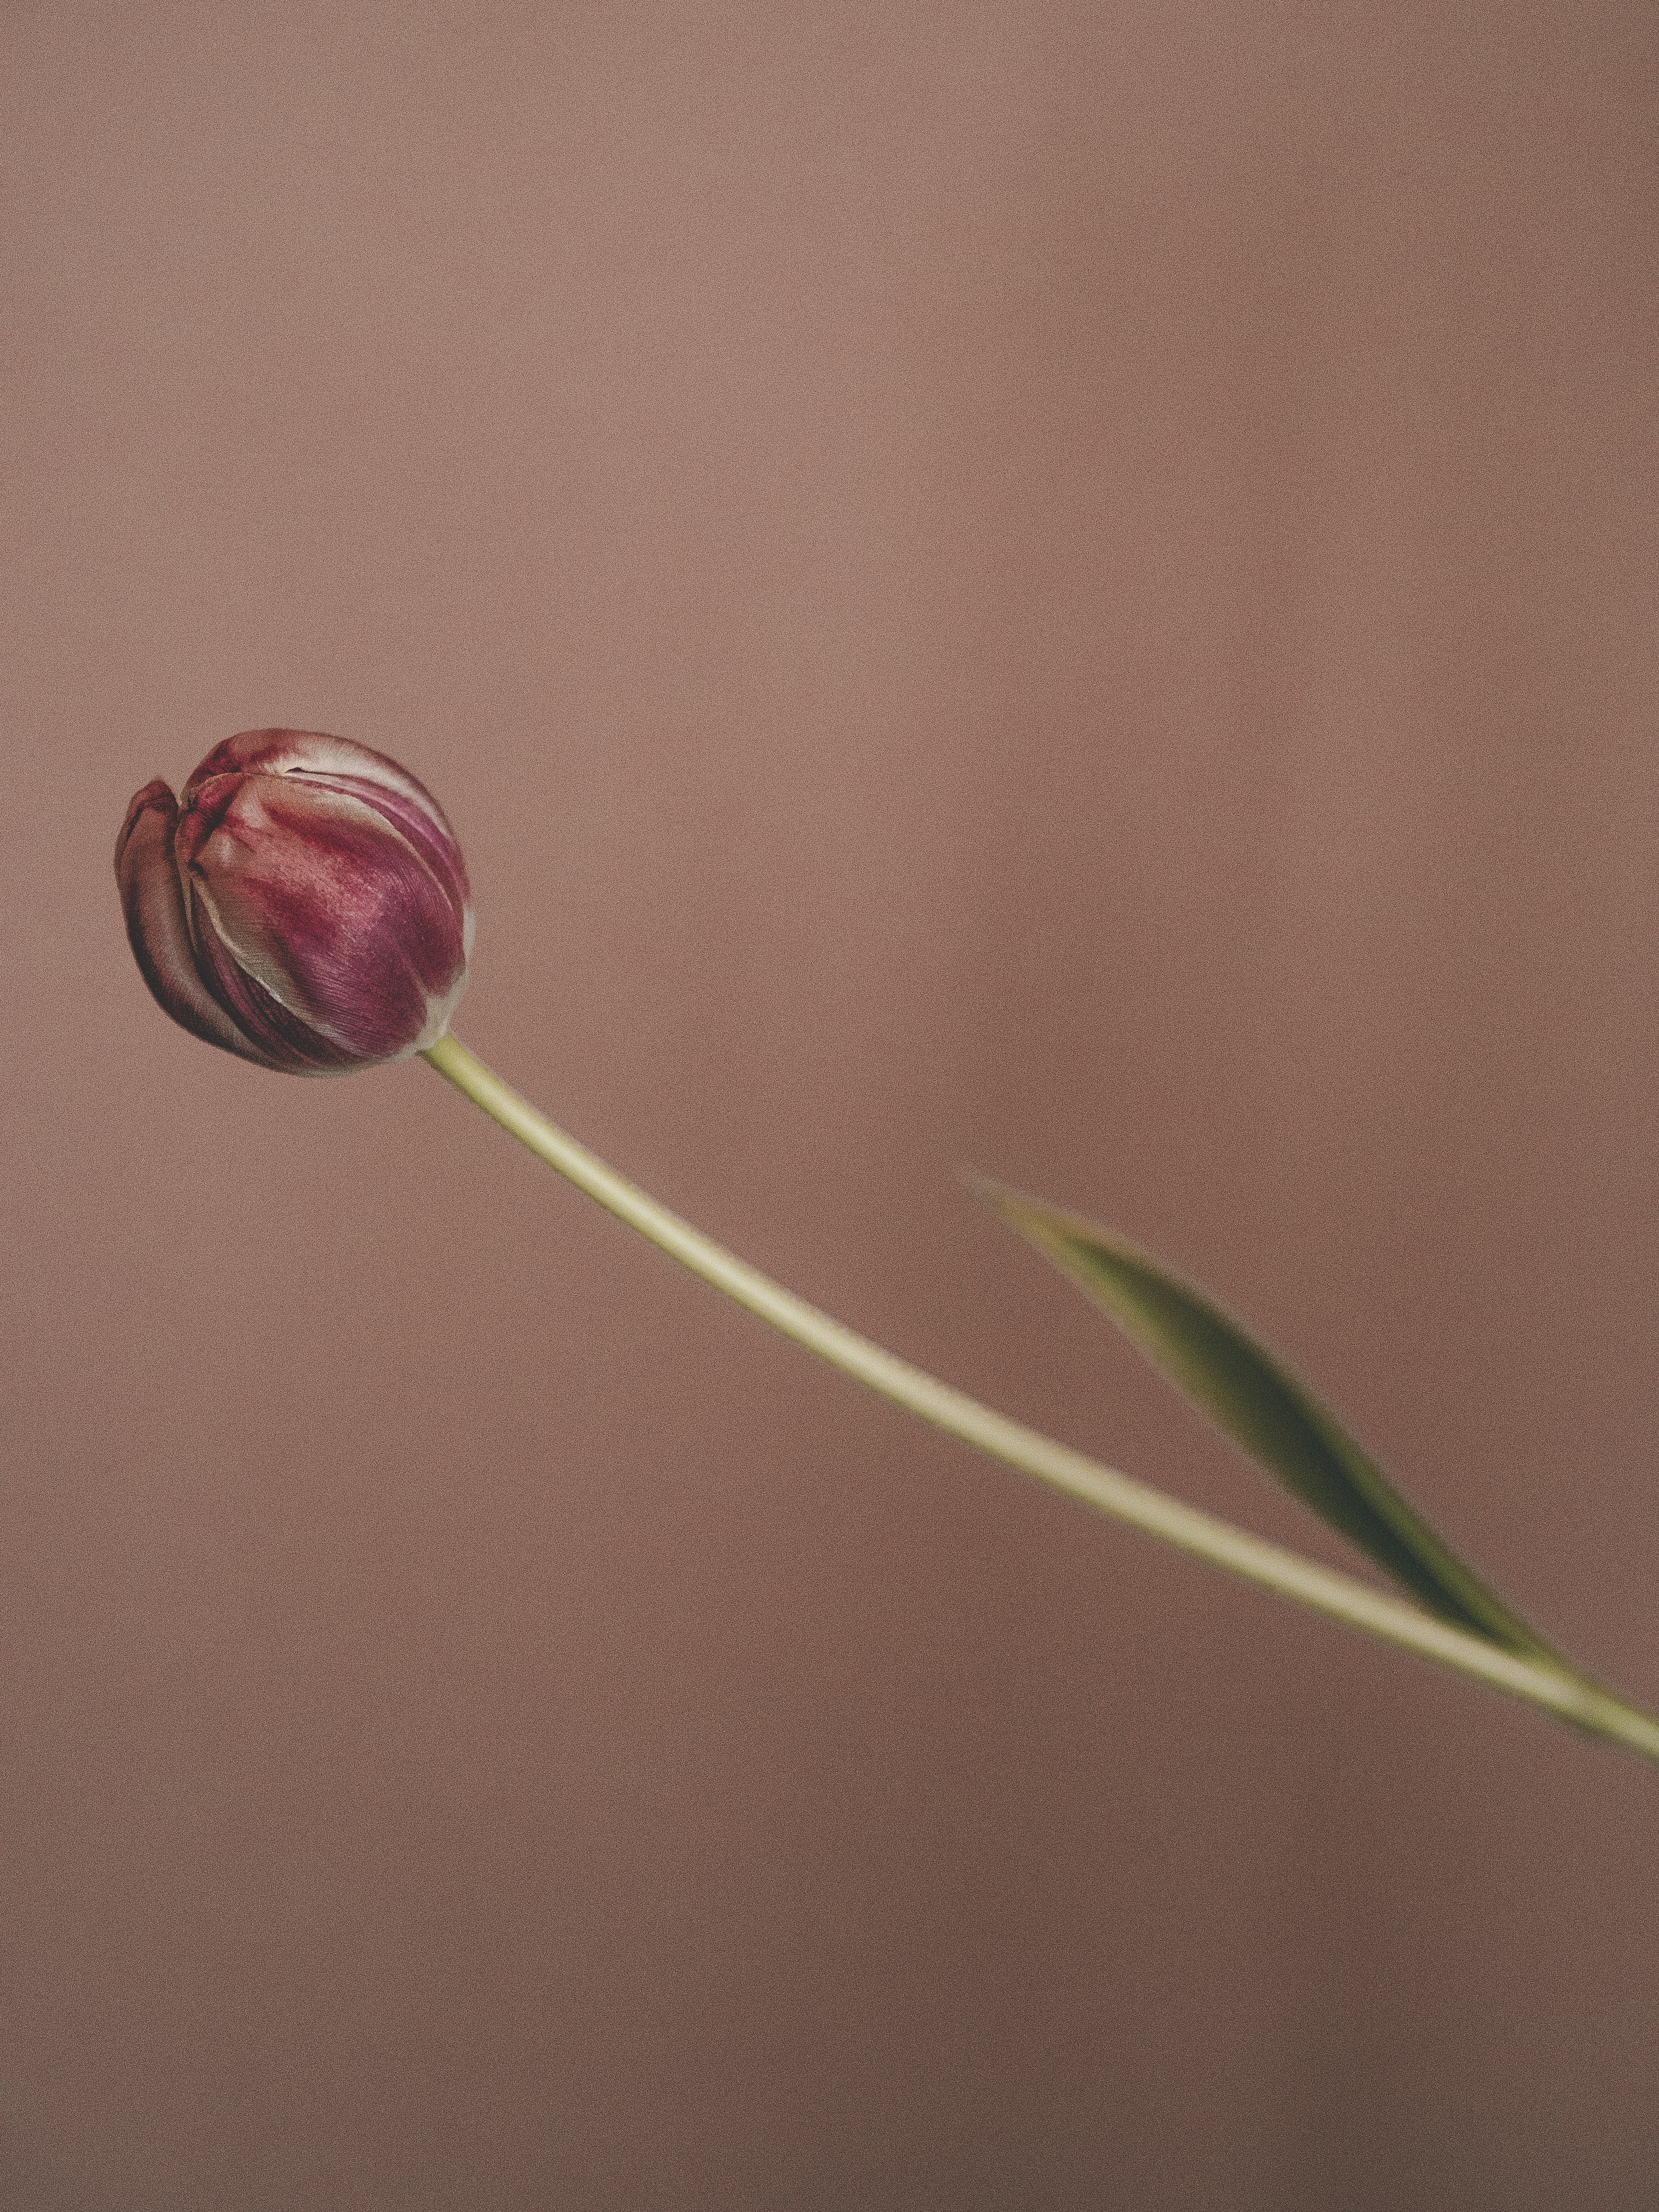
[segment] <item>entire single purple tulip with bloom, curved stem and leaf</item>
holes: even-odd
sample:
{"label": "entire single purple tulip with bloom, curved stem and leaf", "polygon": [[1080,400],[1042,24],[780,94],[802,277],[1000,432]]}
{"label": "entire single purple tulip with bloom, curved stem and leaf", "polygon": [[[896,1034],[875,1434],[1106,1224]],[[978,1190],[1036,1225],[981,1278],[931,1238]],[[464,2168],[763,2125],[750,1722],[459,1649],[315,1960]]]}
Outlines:
{"label": "entire single purple tulip with bloom, curved stem and leaf", "polygon": [[[137,792],[115,847],[115,878],[144,980],[166,1013],[208,1044],[292,1075],[343,1075],[420,1053],[462,1097],[661,1252],[947,1436],[1177,1551],[1659,1765],[1659,1714],[1555,1657],[1491,1593],[1480,1590],[1484,1610],[1469,1610],[1460,1597],[1462,1610],[1442,1604],[1436,1617],[993,1413],[796,1298],[509,1091],[449,1033],[473,933],[460,847],[431,794],[383,752],[314,730],[246,730],[197,768],[181,807],[161,781]],[[1157,1347],[1172,1380],[1316,1511],[1358,1533],[1416,1595],[1425,1595],[1425,1575],[1429,1595],[1473,1586],[1358,1447],[1219,1310],[1077,1217],[1013,1192],[987,1194],[1148,1349]],[[1347,1504],[1332,1509],[1343,1482],[1365,1513],[1347,1493]],[[1385,1524],[1376,1542],[1360,1533],[1363,1524],[1376,1537],[1371,1522]],[[1413,1533],[1413,1573],[1400,1568],[1402,1528]]]}

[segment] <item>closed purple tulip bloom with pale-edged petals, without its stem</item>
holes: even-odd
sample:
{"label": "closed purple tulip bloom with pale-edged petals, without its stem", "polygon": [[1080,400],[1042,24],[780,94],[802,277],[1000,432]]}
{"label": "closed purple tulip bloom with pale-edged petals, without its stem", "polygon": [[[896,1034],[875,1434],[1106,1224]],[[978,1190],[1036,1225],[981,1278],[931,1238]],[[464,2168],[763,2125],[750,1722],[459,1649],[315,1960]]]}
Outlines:
{"label": "closed purple tulip bloom with pale-edged petals, without its stem", "polygon": [[159,1006],[288,1075],[436,1044],[473,914],[442,807],[383,752],[243,730],[184,787],[146,783],[115,845],[126,933]]}

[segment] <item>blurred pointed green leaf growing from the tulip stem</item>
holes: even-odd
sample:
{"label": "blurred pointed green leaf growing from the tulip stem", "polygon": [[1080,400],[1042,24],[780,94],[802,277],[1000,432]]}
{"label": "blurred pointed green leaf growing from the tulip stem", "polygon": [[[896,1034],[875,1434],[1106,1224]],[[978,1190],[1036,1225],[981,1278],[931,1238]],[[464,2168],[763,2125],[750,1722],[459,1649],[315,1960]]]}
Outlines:
{"label": "blurred pointed green leaf growing from the tulip stem", "polygon": [[978,1177],[973,1190],[1104,1307],[1217,1427],[1429,1613],[1504,1650],[1562,1663],[1442,1544],[1318,1398],[1219,1305],[1093,1221]]}

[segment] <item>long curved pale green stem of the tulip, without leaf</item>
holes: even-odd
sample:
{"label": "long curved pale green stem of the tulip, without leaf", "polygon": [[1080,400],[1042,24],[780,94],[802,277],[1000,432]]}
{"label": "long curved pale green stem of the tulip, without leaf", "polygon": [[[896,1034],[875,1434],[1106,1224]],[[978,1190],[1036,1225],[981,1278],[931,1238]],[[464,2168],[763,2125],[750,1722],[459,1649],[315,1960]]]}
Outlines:
{"label": "long curved pale green stem of the tulip, without leaf", "polygon": [[577,1190],[597,1199],[599,1206],[619,1221],[626,1221],[628,1228],[639,1230],[650,1243],[681,1261],[692,1274],[712,1283],[714,1290],[723,1290],[728,1298],[737,1298],[750,1314],[768,1321],[783,1336],[792,1336],[807,1352],[816,1352],[832,1367],[880,1391],[883,1398],[891,1398],[936,1429],[945,1429],[947,1436],[987,1451],[1006,1467],[1018,1467],[1020,1473],[1035,1475],[1037,1482],[1046,1482],[1051,1489],[1095,1506],[1097,1513],[1128,1522],[1130,1528],[1139,1528],[1144,1535],[1155,1535],[1164,1544],[1175,1544],[1177,1551],[1208,1559],[1210,1566],[1219,1566],[1228,1575],[1254,1582],[1256,1588],[1274,1590],[1279,1597],[1323,1613],[1334,1621],[1345,1621],[1349,1628],[1358,1628],[1400,1650],[1416,1652],[1420,1659],[1431,1659],[1455,1674],[1484,1681],[1493,1690],[1522,1699],[1522,1703],[1542,1705],[1544,1712],[1553,1712],[1557,1719],[1571,1721],[1588,1734],[1621,1743],[1626,1750],[1659,1765],[1657,1714],[1628,1703],[1582,1674],[1566,1672],[1546,1661],[1522,1659],[1515,1652],[1500,1650],[1495,1644],[1486,1644],[1484,1637],[1436,1621],[1398,1597],[1387,1597],[1356,1582],[1352,1575],[1316,1566],[1294,1551],[1267,1544],[1243,1528],[1234,1528],[1230,1522],[1199,1513],[1194,1506],[1183,1506],[1179,1500],[1166,1498],[1164,1491],[1135,1482],[1130,1475],[1119,1475],[1115,1469],[1102,1467],[1099,1460],[1088,1460],[1082,1451],[1071,1451],[1037,1429],[1026,1429],[1024,1422],[1009,1420],[1006,1413],[993,1413],[964,1391],[938,1383],[920,1367],[894,1358],[891,1352],[883,1352],[867,1336],[858,1336],[854,1329],[821,1314],[805,1298],[796,1298],[757,1267],[750,1267],[737,1254],[726,1252],[710,1237],[703,1237],[688,1221],[681,1221],[679,1214],[670,1214],[666,1206],[657,1206],[644,1190],[624,1181],[624,1177],[588,1152],[586,1146],[566,1137],[564,1130],[555,1128],[515,1091],[509,1091],[458,1037],[442,1037],[422,1057],[456,1091],[465,1093],[476,1106],[482,1106],[509,1135],[529,1146],[538,1159],[544,1159],[549,1168],[573,1181]]}

